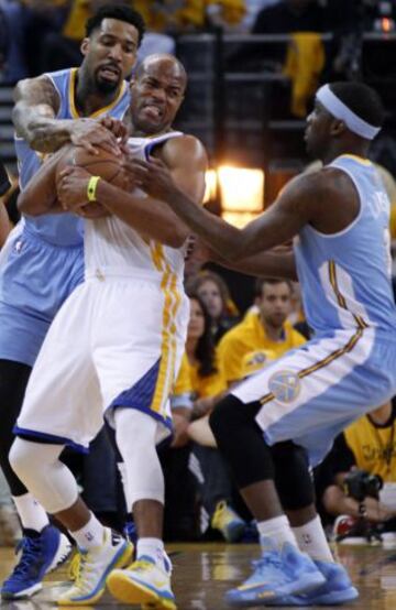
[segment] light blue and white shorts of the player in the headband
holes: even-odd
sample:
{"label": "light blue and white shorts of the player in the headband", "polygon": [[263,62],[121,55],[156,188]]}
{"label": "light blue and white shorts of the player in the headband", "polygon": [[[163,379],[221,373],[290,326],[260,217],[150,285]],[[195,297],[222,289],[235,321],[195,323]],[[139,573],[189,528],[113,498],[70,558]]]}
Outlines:
{"label": "light blue and white shorts of the player in the headband", "polygon": [[231,392],[260,401],[256,422],[270,445],[294,440],[319,464],[351,422],[396,394],[396,338],[374,328],[314,339]]}

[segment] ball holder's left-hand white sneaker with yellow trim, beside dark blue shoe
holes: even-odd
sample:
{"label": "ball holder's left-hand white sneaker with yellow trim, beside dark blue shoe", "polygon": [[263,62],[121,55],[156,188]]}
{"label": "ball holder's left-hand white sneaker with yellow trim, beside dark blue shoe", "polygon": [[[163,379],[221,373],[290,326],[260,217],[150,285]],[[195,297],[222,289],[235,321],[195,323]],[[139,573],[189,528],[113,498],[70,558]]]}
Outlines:
{"label": "ball holder's left-hand white sneaker with yellow trim, beside dark blue shoe", "polygon": [[119,534],[105,527],[105,538],[100,546],[79,552],[76,580],[57,603],[59,606],[90,606],[98,601],[106,587],[109,573],[125,566],[132,557],[133,545]]}

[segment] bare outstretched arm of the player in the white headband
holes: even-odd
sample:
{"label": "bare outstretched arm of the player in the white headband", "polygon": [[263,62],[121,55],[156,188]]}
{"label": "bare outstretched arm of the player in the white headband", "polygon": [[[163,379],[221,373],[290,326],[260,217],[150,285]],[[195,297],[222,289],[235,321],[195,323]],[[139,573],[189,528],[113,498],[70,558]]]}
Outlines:
{"label": "bare outstretched arm of the player in the white headband", "polygon": [[298,176],[284,188],[278,199],[244,229],[199,208],[178,188],[172,173],[161,162],[134,162],[136,184],[177,214],[206,243],[227,261],[238,262],[257,252],[289,241],[315,215],[318,195],[316,175]]}

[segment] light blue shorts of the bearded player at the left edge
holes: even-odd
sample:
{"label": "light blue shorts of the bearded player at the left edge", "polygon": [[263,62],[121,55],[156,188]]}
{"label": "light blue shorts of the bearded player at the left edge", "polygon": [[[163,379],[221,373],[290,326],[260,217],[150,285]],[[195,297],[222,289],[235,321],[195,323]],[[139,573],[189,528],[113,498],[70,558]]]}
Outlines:
{"label": "light blue shorts of the bearded player at the left edge", "polygon": [[0,254],[0,359],[33,366],[64,301],[84,280],[84,247],[57,247],[18,225]]}

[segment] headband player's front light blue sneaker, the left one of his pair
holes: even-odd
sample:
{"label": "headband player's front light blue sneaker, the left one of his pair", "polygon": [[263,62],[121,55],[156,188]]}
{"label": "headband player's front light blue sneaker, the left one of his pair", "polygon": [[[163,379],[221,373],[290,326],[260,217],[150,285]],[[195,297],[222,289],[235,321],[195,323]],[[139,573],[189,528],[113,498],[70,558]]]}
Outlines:
{"label": "headband player's front light blue sneaker, the left one of his pair", "polygon": [[293,544],[285,543],[278,551],[271,541],[262,542],[266,551],[261,559],[253,562],[255,569],[252,576],[226,595],[226,601],[231,606],[267,606],[285,596],[309,591],[326,582],[312,559]]}

